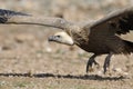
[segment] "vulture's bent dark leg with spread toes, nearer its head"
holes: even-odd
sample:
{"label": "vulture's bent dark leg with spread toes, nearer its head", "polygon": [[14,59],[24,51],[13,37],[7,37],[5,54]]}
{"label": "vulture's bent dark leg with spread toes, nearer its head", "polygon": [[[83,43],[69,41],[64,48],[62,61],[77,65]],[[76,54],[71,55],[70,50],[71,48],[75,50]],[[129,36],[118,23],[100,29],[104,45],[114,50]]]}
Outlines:
{"label": "vulture's bent dark leg with spread toes, nearer its head", "polygon": [[92,65],[98,65],[99,63],[94,60],[94,58],[96,57],[98,55],[93,55],[89,60],[88,60],[88,63],[86,63],[86,72],[88,71],[92,71]]}

